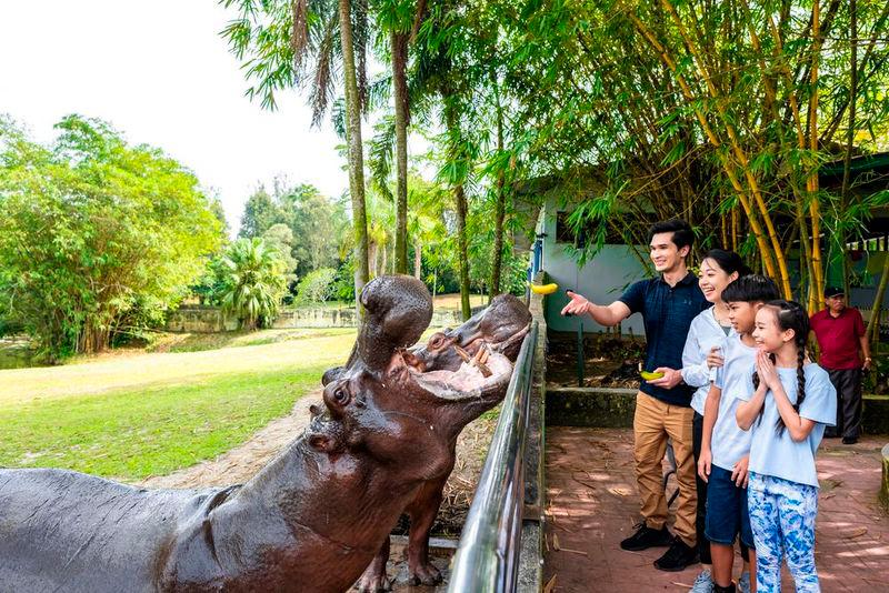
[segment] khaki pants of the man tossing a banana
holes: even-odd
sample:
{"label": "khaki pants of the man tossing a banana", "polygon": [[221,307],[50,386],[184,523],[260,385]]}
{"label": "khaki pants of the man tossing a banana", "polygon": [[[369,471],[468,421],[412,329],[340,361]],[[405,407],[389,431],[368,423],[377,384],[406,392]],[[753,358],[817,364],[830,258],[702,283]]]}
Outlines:
{"label": "khaki pants of the man tossing a banana", "polygon": [[661,460],[667,451],[667,439],[672,440],[676,455],[676,478],[679,482],[676,525],[673,530],[690,546],[697,543],[695,514],[698,494],[695,486],[695,455],[692,453],[691,408],[670,405],[651,395],[636,394],[633,418],[633,456],[636,481],[642,499],[646,525],[659,530],[667,523],[667,497],[663,492]]}

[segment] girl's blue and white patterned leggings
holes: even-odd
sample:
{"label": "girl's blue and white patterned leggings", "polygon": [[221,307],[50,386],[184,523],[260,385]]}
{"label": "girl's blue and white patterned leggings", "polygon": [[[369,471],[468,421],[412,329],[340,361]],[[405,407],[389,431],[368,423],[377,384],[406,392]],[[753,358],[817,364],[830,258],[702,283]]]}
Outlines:
{"label": "girl's blue and white patterned leggings", "polygon": [[781,591],[783,556],[798,592],[820,592],[815,570],[818,489],[750,472],[747,505],[757,546],[757,592]]}

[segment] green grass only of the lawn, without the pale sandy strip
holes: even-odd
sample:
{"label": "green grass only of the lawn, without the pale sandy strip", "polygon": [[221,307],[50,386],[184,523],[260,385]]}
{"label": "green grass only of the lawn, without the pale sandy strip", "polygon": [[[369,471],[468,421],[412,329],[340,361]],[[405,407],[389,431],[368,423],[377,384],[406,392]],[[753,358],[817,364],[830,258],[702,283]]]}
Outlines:
{"label": "green grass only of the lawn, without the pale sandy strip", "polygon": [[127,480],[168,474],[239,445],[287,414],[319,386],[324,369],[198,376],[184,385],[7,405],[0,409],[0,465]]}

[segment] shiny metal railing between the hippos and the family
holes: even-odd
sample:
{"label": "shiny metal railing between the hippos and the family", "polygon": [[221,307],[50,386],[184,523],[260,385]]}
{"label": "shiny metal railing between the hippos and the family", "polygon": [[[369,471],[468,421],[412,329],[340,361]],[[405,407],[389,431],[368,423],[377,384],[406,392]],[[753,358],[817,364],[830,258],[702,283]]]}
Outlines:
{"label": "shiny metal railing between the hippos and the family", "polygon": [[537,350],[537,322],[525,336],[479,485],[453,557],[449,593],[516,589],[525,504],[525,442]]}

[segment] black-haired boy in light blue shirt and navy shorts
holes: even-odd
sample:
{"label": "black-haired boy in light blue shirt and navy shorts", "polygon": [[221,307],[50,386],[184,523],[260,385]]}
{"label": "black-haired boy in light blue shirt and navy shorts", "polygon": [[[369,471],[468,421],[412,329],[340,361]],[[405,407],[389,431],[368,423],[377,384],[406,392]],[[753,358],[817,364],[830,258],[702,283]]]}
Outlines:
{"label": "black-haired boy in light blue shirt and navy shorts", "polygon": [[[735,335],[726,342],[725,364],[717,371],[705,403],[703,440],[698,473],[707,481],[705,533],[713,561],[713,591],[733,592],[731,581],[735,540],[749,550],[750,573],[756,574],[753,533],[747,507],[747,464],[751,434],[736,421],[740,401],[753,392],[752,369],[757,348],[752,332],[756,313],[778,296],[775,282],[761,275],[742,277],[726,287],[722,300],[729,305]],[[739,580],[750,591],[750,576]]]}

